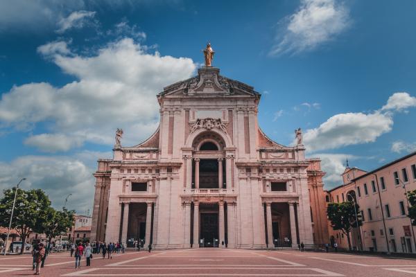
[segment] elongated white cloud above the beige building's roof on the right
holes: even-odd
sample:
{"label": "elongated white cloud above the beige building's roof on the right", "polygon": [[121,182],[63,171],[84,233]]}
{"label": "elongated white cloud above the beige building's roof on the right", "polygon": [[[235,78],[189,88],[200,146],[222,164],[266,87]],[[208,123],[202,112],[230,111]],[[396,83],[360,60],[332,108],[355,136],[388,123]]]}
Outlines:
{"label": "elongated white cloud above the beige building's roof on the right", "polygon": [[306,130],[304,143],[309,151],[341,148],[347,145],[370,143],[392,129],[390,114],[347,113],[331,116],[319,127]]}

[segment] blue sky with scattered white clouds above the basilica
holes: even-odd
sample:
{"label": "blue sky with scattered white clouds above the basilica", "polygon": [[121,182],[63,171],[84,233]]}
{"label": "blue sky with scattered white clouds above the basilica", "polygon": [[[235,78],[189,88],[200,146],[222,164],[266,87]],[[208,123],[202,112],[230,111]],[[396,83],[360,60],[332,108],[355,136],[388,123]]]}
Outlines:
{"label": "blue sky with scattered white clouds above the basilica", "polygon": [[92,208],[92,172],[157,127],[156,94],[211,42],[223,75],[262,93],[259,123],[302,127],[326,188],[416,150],[415,1],[0,1],[0,189]]}

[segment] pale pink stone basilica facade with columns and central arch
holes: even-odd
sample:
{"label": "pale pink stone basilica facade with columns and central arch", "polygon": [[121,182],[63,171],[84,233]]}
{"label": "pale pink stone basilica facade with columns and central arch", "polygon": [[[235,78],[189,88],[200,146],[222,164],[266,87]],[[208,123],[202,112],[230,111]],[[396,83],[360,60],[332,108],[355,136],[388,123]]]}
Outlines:
{"label": "pale pink stone basilica facade with columns and central arch", "polygon": [[92,240],[153,249],[266,249],[327,242],[319,159],[302,132],[284,146],[259,127],[261,95],[202,66],[157,95],[160,123],[98,160]]}

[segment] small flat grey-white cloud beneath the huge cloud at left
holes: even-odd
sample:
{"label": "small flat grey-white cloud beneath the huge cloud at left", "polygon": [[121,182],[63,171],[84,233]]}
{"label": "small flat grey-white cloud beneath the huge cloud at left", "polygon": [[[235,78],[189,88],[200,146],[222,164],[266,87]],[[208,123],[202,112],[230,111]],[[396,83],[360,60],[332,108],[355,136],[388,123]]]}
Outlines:
{"label": "small flat grey-white cloud beneath the huge cloud at left", "polygon": [[80,136],[67,136],[65,134],[38,134],[29,136],[24,144],[34,146],[44,152],[68,151],[71,148],[83,145],[84,139]]}

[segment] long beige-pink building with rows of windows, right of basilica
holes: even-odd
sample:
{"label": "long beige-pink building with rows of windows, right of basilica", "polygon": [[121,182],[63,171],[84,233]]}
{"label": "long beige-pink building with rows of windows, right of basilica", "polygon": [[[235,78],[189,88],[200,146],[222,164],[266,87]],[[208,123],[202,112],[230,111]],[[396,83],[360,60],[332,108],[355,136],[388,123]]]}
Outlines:
{"label": "long beige-pink building with rows of windows, right of basilica", "polygon": [[[327,200],[356,200],[363,226],[352,231],[352,246],[366,251],[415,253],[415,226],[407,217],[406,191],[416,190],[416,152],[371,172],[346,168],[343,185],[329,190]],[[348,248],[347,238],[329,227],[332,242]]]}

